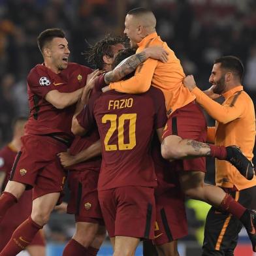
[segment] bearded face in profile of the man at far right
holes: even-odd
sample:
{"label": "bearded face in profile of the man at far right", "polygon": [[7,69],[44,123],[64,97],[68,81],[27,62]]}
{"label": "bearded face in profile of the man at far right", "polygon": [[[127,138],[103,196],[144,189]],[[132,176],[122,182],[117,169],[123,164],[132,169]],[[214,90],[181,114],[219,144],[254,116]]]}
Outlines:
{"label": "bearded face in profile of the man at far right", "polygon": [[221,63],[214,64],[209,82],[214,86],[214,93],[223,94],[227,90],[225,72],[221,69]]}

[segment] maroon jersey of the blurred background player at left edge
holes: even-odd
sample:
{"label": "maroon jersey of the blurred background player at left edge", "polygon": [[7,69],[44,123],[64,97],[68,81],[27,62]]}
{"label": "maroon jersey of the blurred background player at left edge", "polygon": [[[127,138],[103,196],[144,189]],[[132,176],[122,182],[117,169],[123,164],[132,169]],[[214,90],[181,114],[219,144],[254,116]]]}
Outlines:
{"label": "maroon jersey of the blurred background player at left edge", "polygon": [[5,181],[3,182],[2,191],[7,185],[8,178],[10,177],[10,171],[12,170],[12,165],[17,153],[18,152],[16,152],[11,144],[8,144],[0,150],[0,172],[5,172]]}

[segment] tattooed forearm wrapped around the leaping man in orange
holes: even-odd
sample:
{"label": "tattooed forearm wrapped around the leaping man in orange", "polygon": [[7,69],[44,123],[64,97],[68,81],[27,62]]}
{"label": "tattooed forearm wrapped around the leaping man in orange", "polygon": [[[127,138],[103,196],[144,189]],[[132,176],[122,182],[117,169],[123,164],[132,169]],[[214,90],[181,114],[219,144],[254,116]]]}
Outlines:
{"label": "tattooed forearm wrapped around the leaping man in orange", "polygon": [[113,71],[107,72],[104,76],[104,80],[106,84],[110,84],[110,82],[117,82],[121,80],[121,78],[125,77],[127,74],[135,71],[136,67],[146,61],[148,57],[144,52],[140,52],[139,54],[134,54],[129,57],[126,61],[124,61],[120,66],[116,67]]}

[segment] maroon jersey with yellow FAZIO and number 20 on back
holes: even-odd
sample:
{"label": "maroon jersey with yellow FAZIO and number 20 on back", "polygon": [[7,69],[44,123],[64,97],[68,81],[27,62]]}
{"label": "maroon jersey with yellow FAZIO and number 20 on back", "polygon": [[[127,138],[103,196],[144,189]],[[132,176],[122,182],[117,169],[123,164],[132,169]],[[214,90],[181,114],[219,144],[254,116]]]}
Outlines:
{"label": "maroon jersey with yellow FAZIO and number 20 on back", "polygon": [[155,129],[166,123],[161,90],[152,87],[140,95],[95,93],[78,116],[78,122],[89,130],[95,121],[103,148],[98,189],[155,187],[150,142]]}

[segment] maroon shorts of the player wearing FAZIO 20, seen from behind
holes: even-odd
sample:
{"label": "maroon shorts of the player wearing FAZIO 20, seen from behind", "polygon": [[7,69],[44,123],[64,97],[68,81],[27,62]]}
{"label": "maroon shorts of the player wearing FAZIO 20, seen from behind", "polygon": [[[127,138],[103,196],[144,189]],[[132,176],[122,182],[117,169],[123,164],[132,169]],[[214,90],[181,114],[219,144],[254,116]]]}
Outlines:
{"label": "maroon shorts of the player wearing FAZIO 20, seen from behind", "polygon": [[99,202],[108,235],[153,239],[153,193],[152,187],[137,186],[99,191]]}

